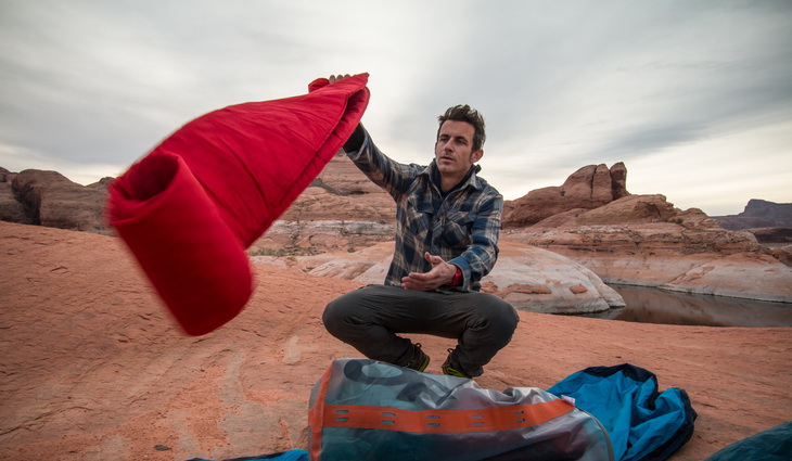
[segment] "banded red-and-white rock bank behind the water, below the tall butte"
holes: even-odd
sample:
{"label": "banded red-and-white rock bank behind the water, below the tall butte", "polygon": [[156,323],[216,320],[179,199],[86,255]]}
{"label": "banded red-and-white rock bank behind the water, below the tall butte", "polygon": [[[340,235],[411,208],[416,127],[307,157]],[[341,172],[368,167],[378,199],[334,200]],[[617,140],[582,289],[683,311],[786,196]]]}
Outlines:
{"label": "banded red-and-white rock bank behind the water, below the tall butte", "polygon": [[554,216],[506,232],[586,266],[608,283],[792,303],[787,252],[729,231],[662,195],[630,195],[592,210]]}

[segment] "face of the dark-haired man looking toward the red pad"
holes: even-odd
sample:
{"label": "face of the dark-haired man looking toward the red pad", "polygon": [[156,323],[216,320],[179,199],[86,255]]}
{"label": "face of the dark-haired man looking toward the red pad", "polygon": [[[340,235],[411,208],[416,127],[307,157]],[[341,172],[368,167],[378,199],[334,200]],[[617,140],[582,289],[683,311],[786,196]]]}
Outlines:
{"label": "face of the dark-haired man looking toward the red pad", "polygon": [[434,156],[442,176],[461,179],[470,167],[478,162],[483,150],[472,152],[473,125],[467,121],[446,120],[434,144]]}

